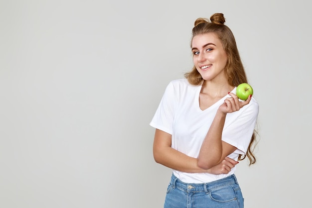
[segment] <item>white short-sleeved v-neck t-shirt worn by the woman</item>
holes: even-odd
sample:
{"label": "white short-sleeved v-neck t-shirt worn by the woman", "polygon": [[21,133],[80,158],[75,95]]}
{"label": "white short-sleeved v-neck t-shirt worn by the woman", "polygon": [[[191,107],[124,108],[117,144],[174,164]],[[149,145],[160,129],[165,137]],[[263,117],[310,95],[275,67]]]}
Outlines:
{"label": "white short-sleeved v-neck t-shirt worn by the woman", "polygon": [[[171,147],[190,157],[197,158],[201,144],[208,132],[218,107],[224,98],[205,110],[199,107],[201,85],[189,84],[186,79],[171,81],[165,89],[160,104],[150,123],[152,127],[171,134]],[[232,93],[236,93],[236,88]],[[222,140],[237,147],[229,155],[237,160],[239,154],[246,154],[253,134],[259,112],[259,105],[254,98],[240,110],[226,115]],[[173,174],[185,183],[208,183],[225,178],[234,173],[236,167],[228,174],[185,173],[172,170]]]}

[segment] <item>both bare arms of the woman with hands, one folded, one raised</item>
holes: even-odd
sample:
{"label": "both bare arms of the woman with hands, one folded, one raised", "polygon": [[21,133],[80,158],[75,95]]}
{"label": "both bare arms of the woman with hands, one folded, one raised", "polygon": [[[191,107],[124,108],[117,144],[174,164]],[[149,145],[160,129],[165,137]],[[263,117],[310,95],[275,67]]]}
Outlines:
{"label": "both bare arms of the woman with hands, one folded, one raised", "polygon": [[247,101],[239,102],[234,94],[230,94],[220,105],[216,116],[207,132],[201,146],[198,158],[189,157],[182,152],[171,148],[171,135],[156,129],[153,154],[157,163],[166,167],[187,173],[227,174],[238,162],[227,157],[236,150],[236,147],[221,140],[221,134],[227,113],[239,110],[249,104]]}

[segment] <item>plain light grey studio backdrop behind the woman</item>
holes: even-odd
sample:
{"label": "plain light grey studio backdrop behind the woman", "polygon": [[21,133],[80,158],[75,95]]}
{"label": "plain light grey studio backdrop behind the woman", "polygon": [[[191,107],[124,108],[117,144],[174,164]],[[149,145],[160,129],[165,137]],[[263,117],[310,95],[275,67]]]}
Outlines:
{"label": "plain light grey studio backdrop behind the woman", "polygon": [[194,20],[223,12],[260,104],[245,207],[308,208],[306,2],[0,0],[0,207],[161,208],[149,122],[192,67]]}

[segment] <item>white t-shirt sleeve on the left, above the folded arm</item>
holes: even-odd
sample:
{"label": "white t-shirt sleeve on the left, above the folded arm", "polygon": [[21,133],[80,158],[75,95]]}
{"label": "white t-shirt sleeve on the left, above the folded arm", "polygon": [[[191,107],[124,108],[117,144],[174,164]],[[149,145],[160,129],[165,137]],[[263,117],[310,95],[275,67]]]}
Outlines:
{"label": "white t-shirt sleeve on the left, above the folded arm", "polygon": [[150,122],[150,125],[159,130],[172,134],[172,125],[174,118],[174,86],[170,82],[161,98],[160,104],[156,109],[156,113]]}

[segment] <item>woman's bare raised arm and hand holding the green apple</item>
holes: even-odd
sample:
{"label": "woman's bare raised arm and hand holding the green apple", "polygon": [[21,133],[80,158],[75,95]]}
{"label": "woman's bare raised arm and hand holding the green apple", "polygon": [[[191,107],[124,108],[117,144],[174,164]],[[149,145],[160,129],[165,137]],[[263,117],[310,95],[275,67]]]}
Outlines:
{"label": "woman's bare raised arm and hand holding the green apple", "polygon": [[236,147],[221,140],[225,117],[227,113],[237,111],[244,105],[249,104],[251,97],[244,102],[239,102],[235,94],[230,93],[230,96],[231,97],[227,98],[218,108],[201,146],[198,156],[198,167],[202,169],[210,169],[216,166],[221,163],[227,155],[236,150]]}

